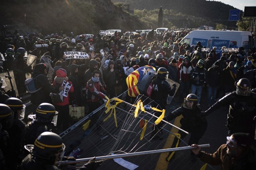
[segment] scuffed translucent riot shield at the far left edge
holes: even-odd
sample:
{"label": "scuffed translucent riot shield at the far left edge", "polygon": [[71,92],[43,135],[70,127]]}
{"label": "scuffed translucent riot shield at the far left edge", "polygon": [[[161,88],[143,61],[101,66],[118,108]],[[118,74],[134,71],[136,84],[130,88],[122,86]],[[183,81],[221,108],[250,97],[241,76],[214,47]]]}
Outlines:
{"label": "scuffed translucent riot shield at the far left edge", "polygon": [[[12,90],[12,86],[13,86],[16,95],[19,95],[17,86],[16,86],[16,82],[15,82],[14,73],[13,73],[13,71],[9,71],[9,73],[10,73],[11,80],[9,80],[7,72],[0,73],[0,77],[5,82],[5,83],[3,83],[3,85],[4,85],[3,89],[5,90],[5,92],[8,92],[9,90],[10,91]],[[5,77],[5,76],[7,76],[7,77]],[[11,86],[10,81],[12,81],[12,86]],[[12,96],[12,97],[14,97],[14,96]]]}

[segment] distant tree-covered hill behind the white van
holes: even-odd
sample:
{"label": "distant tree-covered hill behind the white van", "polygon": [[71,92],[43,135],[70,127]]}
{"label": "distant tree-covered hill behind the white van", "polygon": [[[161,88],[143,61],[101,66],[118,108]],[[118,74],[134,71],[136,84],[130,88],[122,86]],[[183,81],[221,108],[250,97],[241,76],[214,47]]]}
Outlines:
{"label": "distant tree-covered hill behind the white van", "polygon": [[[228,21],[229,10],[236,9],[218,1],[206,0],[112,0],[114,4],[121,6],[128,5],[129,10],[134,14],[141,13],[138,11],[145,11],[147,13],[154,13],[157,9],[157,14],[160,6],[164,14],[165,26],[168,27],[170,22],[176,27],[199,27],[200,24],[215,27],[217,24],[224,24],[229,29],[236,28],[235,21]],[[242,15],[242,11],[240,12]],[[184,23],[184,24],[183,24]],[[192,24],[192,25],[190,25]]]}

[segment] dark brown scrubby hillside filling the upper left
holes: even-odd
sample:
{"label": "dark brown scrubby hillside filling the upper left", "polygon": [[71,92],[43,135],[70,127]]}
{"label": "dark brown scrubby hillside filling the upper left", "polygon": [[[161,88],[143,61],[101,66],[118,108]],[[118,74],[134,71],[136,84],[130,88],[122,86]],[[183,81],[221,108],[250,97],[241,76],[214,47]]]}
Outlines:
{"label": "dark brown scrubby hillside filling the upper left", "polygon": [[133,30],[143,24],[111,0],[1,0],[0,23],[11,31],[97,34]]}

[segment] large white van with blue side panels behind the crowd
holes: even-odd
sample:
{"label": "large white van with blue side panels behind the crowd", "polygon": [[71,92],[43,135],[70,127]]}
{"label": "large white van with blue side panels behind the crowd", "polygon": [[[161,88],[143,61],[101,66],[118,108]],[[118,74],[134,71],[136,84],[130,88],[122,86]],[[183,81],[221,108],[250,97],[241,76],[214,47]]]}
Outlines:
{"label": "large white van with blue side panels behind the crowd", "polygon": [[211,49],[216,47],[216,51],[219,51],[222,46],[226,48],[253,48],[253,37],[249,31],[194,30],[187,34],[180,43],[186,42],[192,46],[196,45],[198,41],[203,47]]}

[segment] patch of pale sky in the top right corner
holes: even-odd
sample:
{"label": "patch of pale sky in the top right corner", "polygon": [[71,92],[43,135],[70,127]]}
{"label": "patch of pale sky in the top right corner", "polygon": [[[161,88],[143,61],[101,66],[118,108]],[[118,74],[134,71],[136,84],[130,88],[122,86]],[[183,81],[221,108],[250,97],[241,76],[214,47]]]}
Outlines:
{"label": "patch of pale sky in the top right corner", "polygon": [[243,10],[244,7],[256,7],[256,0],[215,0]]}

